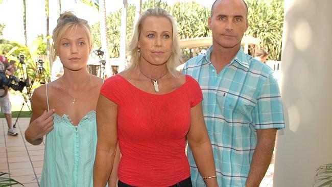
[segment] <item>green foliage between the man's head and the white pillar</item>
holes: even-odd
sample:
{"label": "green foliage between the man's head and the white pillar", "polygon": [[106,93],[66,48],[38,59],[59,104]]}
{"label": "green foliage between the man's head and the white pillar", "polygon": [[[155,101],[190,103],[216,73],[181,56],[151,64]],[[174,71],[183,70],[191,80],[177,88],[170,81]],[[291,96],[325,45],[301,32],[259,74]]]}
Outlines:
{"label": "green foliage between the man's head and the white pillar", "polygon": [[283,0],[248,0],[249,29],[247,35],[260,39],[260,47],[267,48],[270,59],[281,59]]}

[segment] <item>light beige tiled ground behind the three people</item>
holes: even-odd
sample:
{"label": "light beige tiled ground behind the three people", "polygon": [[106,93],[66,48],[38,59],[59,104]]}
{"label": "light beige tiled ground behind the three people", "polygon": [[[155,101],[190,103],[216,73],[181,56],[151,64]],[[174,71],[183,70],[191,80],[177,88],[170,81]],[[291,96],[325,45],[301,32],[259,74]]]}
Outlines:
{"label": "light beige tiled ground behind the three people", "polygon": [[[15,122],[16,119],[13,119]],[[0,119],[0,171],[10,173],[11,177],[26,187],[39,187],[44,158],[44,143],[33,146],[24,139],[24,131],[29,125],[29,118],[19,118],[16,124],[17,136],[7,135],[7,123]],[[271,164],[260,187],[271,187],[273,178]],[[13,185],[20,186],[20,185]]]}

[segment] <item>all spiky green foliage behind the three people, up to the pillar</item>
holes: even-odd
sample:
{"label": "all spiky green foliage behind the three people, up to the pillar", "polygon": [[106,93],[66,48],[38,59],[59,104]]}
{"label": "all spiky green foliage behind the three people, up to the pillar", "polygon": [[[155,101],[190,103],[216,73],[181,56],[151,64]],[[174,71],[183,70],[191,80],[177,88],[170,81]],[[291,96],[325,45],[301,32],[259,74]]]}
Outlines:
{"label": "all spiky green foliage behind the three people, up to the pillar", "polygon": [[[280,60],[283,26],[283,0],[248,0],[249,29],[247,35],[260,39],[260,47],[267,48],[270,59]],[[207,20],[210,8],[203,7],[195,2],[178,2],[169,6],[163,0],[148,0],[142,5],[142,11],[148,8],[160,7],[168,10],[176,20],[180,39],[212,36],[208,29]],[[107,37],[109,39],[110,57],[118,57],[120,51],[121,11],[112,12],[107,17]],[[127,43],[132,37],[135,6],[127,7]],[[92,26],[94,47],[99,48],[99,23]],[[184,57],[190,56],[188,49],[183,50]]]}

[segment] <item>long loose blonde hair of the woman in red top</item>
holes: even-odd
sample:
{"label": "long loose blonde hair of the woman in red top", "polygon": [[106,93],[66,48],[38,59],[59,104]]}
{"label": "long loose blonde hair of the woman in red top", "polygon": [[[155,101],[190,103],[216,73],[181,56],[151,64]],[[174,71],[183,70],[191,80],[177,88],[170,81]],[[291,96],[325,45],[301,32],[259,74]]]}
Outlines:
{"label": "long loose blonde hair of the woman in red top", "polygon": [[172,15],[169,14],[166,10],[161,9],[161,8],[150,8],[139,16],[137,23],[135,25],[135,28],[134,28],[133,37],[128,46],[128,52],[129,52],[129,55],[131,56],[131,59],[129,61],[129,65],[126,68],[126,70],[131,71],[132,69],[134,69],[135,67],[138,66],[139,55],[140,55],[139,52],[137,51],[138,39],[139,39],[139,35],[141,32],[143,22],[145,21],[145,19],[147,17],[165,17],[171,22],[172,32],[173,32],[172,33],[172,35],[173,35],[172,53],[171,53],[170,58],[166,62],[166,66],[168,68],[168,71],[174,77],[178,77],[178,73],[175,69],[178,65],[180,65],[180,61],[181,61],[181,50],[180,50],[180,46],[179,46],[178,32],[177,32],[176,24],[175,24],[175,21],[174,21]]}

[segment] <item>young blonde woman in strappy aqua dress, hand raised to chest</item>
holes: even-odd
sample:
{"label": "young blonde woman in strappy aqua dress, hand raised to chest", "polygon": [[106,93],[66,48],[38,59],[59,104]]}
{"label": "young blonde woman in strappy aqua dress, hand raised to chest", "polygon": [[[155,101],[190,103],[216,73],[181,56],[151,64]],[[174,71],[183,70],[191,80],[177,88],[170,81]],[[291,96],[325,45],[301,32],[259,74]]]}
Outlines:
{"label": "young blonde woman in strappy aqua dress, hand raised to chest", "polygon": [[[87,71],[91,47],[87,21],[72,12],[61,14],[53,31],[52,52],[63,64],[63,75],[34,90],[25,132],[33,145],[41,144],[46,135],[41,186],[93,186],[96,106],[103,79]],[[110,178],[110,186],[115,186],[116,173]]]}

